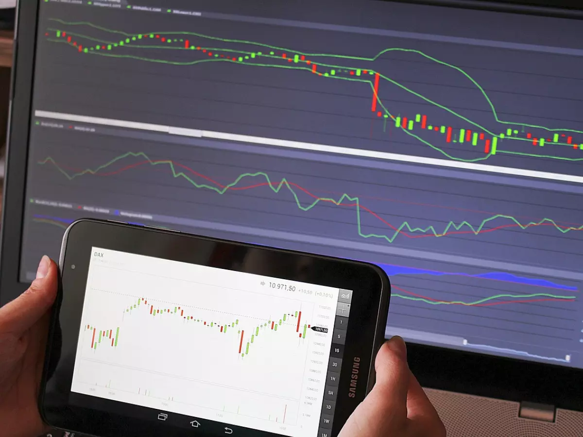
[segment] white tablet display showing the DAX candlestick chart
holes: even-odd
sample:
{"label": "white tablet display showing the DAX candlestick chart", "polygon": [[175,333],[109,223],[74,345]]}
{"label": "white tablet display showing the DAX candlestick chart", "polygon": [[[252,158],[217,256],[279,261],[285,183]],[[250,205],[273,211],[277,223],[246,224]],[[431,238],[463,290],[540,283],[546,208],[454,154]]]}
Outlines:
{"label": "white tablet display showing the DAX candlestick chart", "polygon": [[180,414],[200,431],[218,421],[226,434],[325,433],[351,299],[93,247],[71,391],[152,408],[154,420]]}

